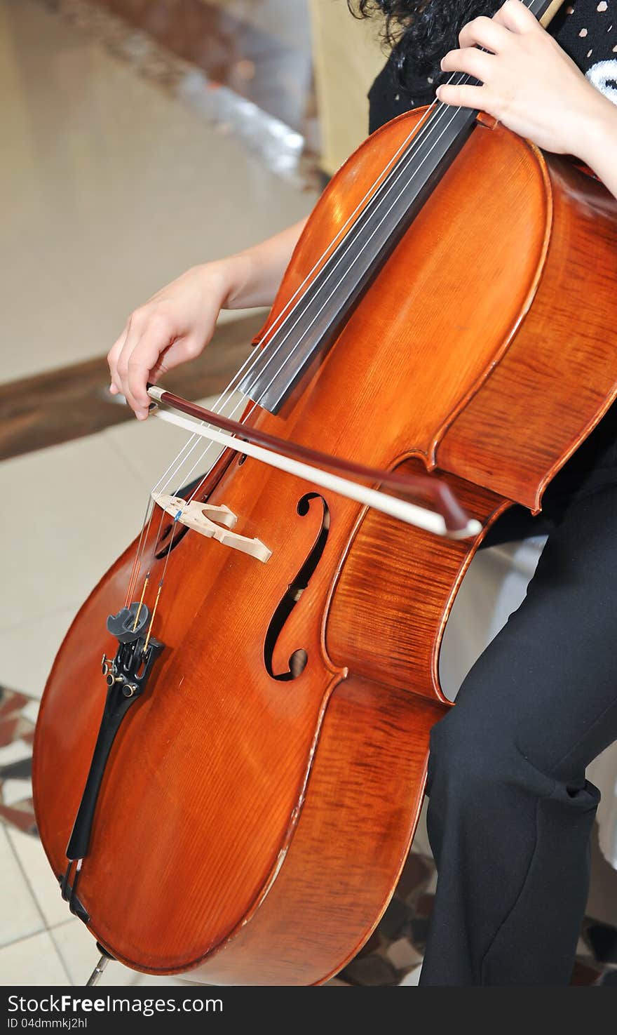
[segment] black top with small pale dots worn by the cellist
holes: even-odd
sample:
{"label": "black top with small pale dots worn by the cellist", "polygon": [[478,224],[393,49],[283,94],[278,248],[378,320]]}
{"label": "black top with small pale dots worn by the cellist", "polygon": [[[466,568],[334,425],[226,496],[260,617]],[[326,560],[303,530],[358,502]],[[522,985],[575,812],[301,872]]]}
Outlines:
{"label": "black top with small pale dots worn by the cellist", "polygon": [[[550,31],[593,85],[617,103],[617,0],[572,0],[555,16]],[[391,58],[369,91],[369,131],[401,112],[429,105],[434,87],[432,77],[419,76],[402,90]]]}

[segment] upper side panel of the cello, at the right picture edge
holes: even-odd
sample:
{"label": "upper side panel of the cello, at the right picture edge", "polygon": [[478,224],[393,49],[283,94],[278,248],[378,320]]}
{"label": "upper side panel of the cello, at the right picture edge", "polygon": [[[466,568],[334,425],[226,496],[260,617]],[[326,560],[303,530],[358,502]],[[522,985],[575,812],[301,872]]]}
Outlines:
{"label": "upper side panel of the cello, at the right picture edge", "polygon": [[569,159],[544,160],[553,213],[532,305],[436,456],[534,511],[617,395],[617,201]]}

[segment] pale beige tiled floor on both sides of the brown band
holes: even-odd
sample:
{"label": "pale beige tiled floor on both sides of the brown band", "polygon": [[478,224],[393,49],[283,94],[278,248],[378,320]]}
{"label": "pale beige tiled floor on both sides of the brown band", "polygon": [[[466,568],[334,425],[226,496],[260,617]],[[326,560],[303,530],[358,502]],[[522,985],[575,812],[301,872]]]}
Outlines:
{"label": "pale beige tiled floor on both sides of the brown band", "polygon": [[[0,225],[4,381],[104,353],[127,313],[160,285],[300,218],[313,201],[55,6],[0,0],[0,190],[11,200]],[[281,38],[289,32],[286,0],[228,7],[261,31],[278,11]],[[135,533],[150,489],[184,441],[155,420],[131,422],[0,465],[6,985],[83,984],[97,960],[84,925],[67,918],[32,829],[33,722],[72,616]],[[418,983],[434,886],[421,827],[397,896],[347,981]],[[589,965],[588,942],[581,949],[590,980],[598,965]],[[101,983],[176,981],[110,964]]]}

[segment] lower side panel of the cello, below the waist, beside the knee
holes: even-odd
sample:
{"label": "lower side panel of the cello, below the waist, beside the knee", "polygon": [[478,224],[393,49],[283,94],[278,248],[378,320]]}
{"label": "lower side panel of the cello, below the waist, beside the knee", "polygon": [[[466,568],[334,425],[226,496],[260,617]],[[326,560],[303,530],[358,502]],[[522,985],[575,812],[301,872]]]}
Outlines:
{"label": "lower side panel of the cello, below the waist, beside the knee", "polygon": [[422,805],[430,728],[449,707],[362,679],[339,683],[298,829],[258,922],[194,979],[315,984],[341,969],[394,890]]}

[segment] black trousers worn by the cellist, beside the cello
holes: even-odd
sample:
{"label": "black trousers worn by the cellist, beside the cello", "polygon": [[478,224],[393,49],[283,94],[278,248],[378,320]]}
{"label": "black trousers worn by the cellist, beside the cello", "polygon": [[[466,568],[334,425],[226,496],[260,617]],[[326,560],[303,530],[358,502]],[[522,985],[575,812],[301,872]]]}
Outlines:
{"label": "black trousers worn by the cellist, beside the cello", "polygon": [[[585,769],[617,739],[615,407],[544,512],[552,531],[523,603],[432,732],[438,878],[423,985],[563,985],[572,974],[599,800]],[[492,541],[524,534],[516,516]],[[534,521],[527,529],[542,530]]]}

